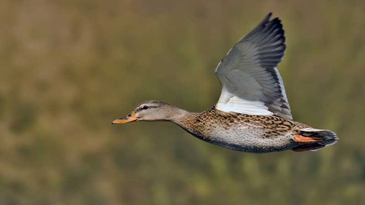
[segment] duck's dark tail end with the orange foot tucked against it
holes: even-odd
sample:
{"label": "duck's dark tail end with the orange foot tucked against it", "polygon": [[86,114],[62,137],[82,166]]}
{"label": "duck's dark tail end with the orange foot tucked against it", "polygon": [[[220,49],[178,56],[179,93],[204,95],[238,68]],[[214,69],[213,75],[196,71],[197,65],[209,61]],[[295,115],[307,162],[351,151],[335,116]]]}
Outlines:
{"label": "duck's dark tail end with the orange foot tucked against it", "polygon": [[298,134],[294,135],[294,141],[299,142],[300,145],[293,148],[293,151],[317,151],[323,147],[335,144],[337,140],[336,133],[330,130],[302,128]]}

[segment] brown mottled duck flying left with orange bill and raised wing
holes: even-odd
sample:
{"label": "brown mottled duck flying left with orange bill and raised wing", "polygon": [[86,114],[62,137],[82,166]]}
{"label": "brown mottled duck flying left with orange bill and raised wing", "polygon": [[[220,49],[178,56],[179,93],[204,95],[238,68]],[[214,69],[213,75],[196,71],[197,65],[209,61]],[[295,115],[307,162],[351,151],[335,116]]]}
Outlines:
{"label": "brown mottled duck flying left with orange bill and raised wing", "polygon": [[271,16],[219,62],[215,74],[222,92],[212,108],[195,113],[149,100],[112,124],[171,121],[206,142],[252,153],[318,150],[336,143],[334,132],[292,120],[277,70],[286,48],[283,25],[278,18],[270,20]]}

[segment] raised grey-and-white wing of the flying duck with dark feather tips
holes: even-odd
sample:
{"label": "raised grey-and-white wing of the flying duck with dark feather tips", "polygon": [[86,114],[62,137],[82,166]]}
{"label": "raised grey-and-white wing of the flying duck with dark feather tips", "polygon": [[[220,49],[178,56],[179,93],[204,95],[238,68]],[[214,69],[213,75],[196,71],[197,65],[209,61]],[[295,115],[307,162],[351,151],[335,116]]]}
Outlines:
{"label": "raised grey-and-white wing of the flying duck with dark feather tips", "polygon": [[284,83],[276,69],[285,51],[283,25],[269,13],[219,62],[215,74],[222,85],[216,108],[249,115],[292,119]]}

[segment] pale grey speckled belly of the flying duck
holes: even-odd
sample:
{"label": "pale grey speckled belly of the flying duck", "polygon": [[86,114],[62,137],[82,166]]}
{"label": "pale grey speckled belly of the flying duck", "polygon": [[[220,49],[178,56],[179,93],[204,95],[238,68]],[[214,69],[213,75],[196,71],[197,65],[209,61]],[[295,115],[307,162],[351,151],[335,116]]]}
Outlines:
{"label": "pale grey speckled belly of the flying duck", "polygon": [[204,137],[197,138],[231,150],[264,153],[283,151],[295,147],[293,135],[289,132],[268,135],[270,131],[255,126],[215,127],[205,130]]}

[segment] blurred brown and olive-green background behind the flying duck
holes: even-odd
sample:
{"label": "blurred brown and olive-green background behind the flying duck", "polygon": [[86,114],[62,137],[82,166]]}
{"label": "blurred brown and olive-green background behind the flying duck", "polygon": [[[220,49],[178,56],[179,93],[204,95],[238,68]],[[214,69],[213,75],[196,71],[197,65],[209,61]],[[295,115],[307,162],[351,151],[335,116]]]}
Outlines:
{"label": "blurred brown and olive-green background behind the flying duck", "polygon": [[[248,154],[167,122],[111,125],[144,100],[203,111],[214,69],[272,11],[295,120],[340,140]],[[365,204],[365,2],[0,1],[1,205]]]}

